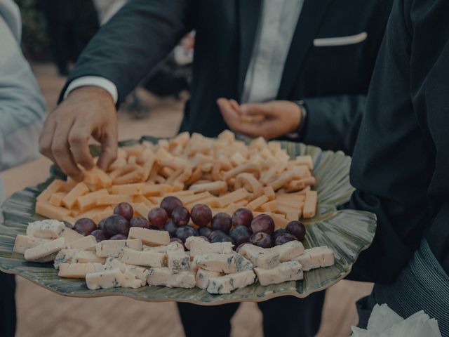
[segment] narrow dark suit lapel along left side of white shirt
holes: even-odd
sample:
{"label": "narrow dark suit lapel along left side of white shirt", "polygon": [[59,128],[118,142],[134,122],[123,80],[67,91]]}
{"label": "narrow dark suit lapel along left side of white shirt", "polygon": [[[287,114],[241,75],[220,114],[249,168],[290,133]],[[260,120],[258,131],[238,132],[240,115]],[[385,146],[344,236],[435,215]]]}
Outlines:
{"label": "narrow dark suit lapel along left side of white shirt", "polygon": [[239,96],[243,93],[246,72],[253,55],[254,41],[259,24],[262,0],[239,0],[239,30],[240,30],[240,59],[239,83],[237,89]]}

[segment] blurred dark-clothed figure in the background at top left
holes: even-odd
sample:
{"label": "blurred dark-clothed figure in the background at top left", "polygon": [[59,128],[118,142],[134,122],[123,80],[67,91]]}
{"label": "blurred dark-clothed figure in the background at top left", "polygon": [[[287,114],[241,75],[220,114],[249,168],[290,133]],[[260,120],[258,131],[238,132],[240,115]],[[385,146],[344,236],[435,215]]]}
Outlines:
{"label": "blurred dark-clothed figure in the background at top left", "polygon": [[81,53],[79,0],[43,0],[53,58],[61,76],[69,74],[69,62]]}

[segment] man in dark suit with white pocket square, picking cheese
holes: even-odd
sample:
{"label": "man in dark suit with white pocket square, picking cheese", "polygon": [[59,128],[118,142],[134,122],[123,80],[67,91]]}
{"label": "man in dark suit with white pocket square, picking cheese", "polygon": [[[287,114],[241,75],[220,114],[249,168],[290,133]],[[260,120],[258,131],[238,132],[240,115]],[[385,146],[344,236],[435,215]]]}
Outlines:
{"label": "man in dark suit with white pocket square, picking cheese", "polygon": [[[259,134],[351,153],[392,0],[342,2],[131,0],[81,54],[46,120],[41,152],[80,180],[76,164],[94,165],[93,136],[106,169],[117,151],[116,107],[194,29],[191,98],[180,131],[244,133],[226,116],[229,99],[270,107],[281,101],[275,120],[288,127],[276,123],[276,132]],[[323,299],[321,291],[258,303],[264,336],[314,336]],[[239,303],[178,308],[187,337],[229,336]]]}

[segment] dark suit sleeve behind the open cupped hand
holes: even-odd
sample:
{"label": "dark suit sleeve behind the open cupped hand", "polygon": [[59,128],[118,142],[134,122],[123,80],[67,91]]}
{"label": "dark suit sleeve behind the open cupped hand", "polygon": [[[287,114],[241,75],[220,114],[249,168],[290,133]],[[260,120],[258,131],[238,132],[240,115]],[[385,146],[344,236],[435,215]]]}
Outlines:
{"label": "dark suit sleeve behind the open cupped hand", "polygon": [[301,141],[352,154],[365,109],[365,95],[304,98],[307,120]]}

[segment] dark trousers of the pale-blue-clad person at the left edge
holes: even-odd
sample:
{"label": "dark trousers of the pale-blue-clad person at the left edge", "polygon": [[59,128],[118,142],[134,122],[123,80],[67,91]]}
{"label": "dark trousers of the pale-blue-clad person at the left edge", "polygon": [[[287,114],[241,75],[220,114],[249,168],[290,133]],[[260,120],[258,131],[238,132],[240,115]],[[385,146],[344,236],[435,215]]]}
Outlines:
{"label": "dark trousers of the pale-blue-clad person at the left edge", "polygon": [[0,336],[14,337],[16,321],[15,278],[0,272]]}

